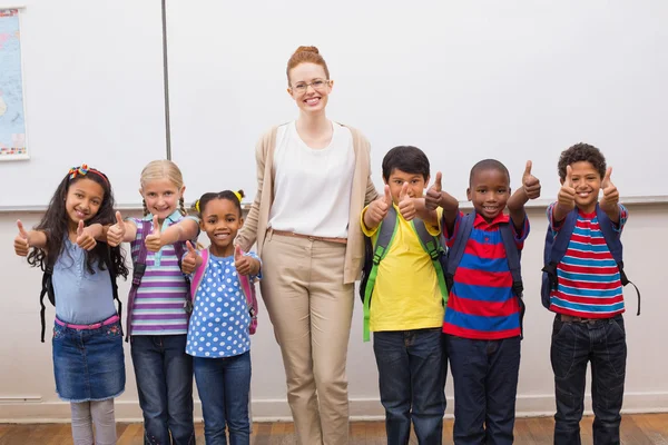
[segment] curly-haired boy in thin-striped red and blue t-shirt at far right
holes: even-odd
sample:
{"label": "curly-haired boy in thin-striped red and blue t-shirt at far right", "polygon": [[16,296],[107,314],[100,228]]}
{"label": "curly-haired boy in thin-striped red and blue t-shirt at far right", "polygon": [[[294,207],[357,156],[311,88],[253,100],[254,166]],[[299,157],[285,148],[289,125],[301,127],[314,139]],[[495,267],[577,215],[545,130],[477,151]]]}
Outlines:
{"label": "curly-haired boy in thin-striped red and blue t-shirt at far right", "polygon": [[557,202],[548,207],[548,230],[554,239],[560,237],[571,214],[574,228],[564,229],[568,248],[549,295],[549,308],[556,313],[550,352],[557,398],[554,444],[580,444],[587,362],[591,362],[593,443],[618,444],[627,356],[625,309],[620,269],[605,235],[609,230],[618,241],[628,212],[598,148],[570,147],[561,154],[558,169],[562,187]]}

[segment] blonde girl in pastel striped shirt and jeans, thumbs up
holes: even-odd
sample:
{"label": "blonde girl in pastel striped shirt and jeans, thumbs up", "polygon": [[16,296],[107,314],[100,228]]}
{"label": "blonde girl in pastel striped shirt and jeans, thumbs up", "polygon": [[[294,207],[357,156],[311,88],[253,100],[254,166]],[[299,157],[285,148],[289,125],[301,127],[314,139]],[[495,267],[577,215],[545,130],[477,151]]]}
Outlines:
{"label": "blonde girl in pastel striped shirt and jeans, thumbs up", "polygon": [[185,241],[197,237],[199,224],[186,217],[186,188],[176,164],[149,162],[140,182],[145,217],[124,221],[116,212],[107,240],[110,246],[126,241],[132,247],[135,273],[126,335],[131,340],[144,412],[144,439],[146,444],[194,444],[193,359],[186,354],[191,306],[179,259]]}

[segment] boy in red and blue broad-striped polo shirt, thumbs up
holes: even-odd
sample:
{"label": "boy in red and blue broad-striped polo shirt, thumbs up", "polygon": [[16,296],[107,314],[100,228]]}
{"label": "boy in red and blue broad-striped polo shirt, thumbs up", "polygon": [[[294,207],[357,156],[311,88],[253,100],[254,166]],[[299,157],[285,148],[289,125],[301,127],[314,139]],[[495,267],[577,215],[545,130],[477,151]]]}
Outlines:
{"label": "boy in red and blue broad-striped polo shirt, thumbs up", "polygon": [[[512,444],[522,307],[519,251],[529,235],[524,204],[539,196],[531,161],[511,196],[508,169],[493,159],[471,169],[466,197],[473,214],[464,217],[440,181],[428,191],[428,208],[443,208],[451,249],[443,333],[454,384],[455,444]],[[507,205],[510,216],[503,214]],[[458,250],[459,265],[453,263]]]}

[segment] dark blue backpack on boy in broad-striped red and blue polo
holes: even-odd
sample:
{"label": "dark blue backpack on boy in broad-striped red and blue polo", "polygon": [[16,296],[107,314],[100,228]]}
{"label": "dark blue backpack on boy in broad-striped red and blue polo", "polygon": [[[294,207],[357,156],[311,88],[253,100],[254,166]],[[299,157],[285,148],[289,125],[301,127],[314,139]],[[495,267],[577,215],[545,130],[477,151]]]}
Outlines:
{"label": "dark blue backpack on boy in broad-striped red and blue polo", "polygon": [[[454,273],[462,261],[464,250],[466,248],[466,241],[471,236],[473,229],[473,221],[475,220],[475,210],[471,211],[461,218],[459,227],[456,229],[456,237],[454,245],[448,250],[448,260],[445,269],[445,284],[449,289],[452,289],[454,284]],[[443,221],[444,222],[444,221]],[[520,330],[523,337],[522,320],[524,319],[524,300],[522,294],[524,291],[524,285],[522,284],[522,268],[520,264],[521,251],[518,249],[518,245],[514,240],[513,228],[510,222],[503,222],[499,225],[499,231],[501,233],[501,239],[503,241],[503,248],[505,249],[505,258],[508,259],[508,268],[512,276],[512,293],[518,297],[520,305]]]}

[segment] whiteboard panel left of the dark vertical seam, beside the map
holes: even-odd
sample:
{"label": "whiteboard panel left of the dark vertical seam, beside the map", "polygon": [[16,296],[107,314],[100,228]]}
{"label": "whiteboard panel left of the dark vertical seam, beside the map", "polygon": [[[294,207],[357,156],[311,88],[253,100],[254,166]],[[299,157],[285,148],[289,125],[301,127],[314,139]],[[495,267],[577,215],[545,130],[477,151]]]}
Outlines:
{"label": "whiteboard panel left of the dark vertical seam, beside the map", "polygon": [[46,207],[84,162],[109,176],[120,206],[139,205],[141,168],[166,157],[160,2],[22,6],[30,160],[0,162],[0,209]]}

